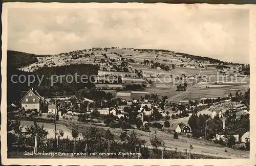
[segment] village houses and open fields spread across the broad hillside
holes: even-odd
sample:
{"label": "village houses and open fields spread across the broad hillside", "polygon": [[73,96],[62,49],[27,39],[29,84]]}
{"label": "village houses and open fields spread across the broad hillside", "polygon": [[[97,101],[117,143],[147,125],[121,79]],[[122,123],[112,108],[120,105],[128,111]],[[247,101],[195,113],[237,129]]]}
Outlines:
{"label": "village houses and open fields spread across the broad hillside", "polygon": [[[150,56],[144,59],[143,55]],[[153,139],[159,137],[165,150],[184,153],[185,149],[187,153],[190,143],[200,147],[194,148],[195,154],[248,157],[247,65],[187,56],[133,48],[92,48],[37,57],[37,62],[23,70],[36,72],[44,67],[66,66],[62,61],[71,66],[98,66],[94,87],[73,94],[65,90],[50,94],[36,86],[27,87],[18,100],[9,104],[8,120],[18,118],[22,132],[33,122],[43,124],[48,139],[59,139],[59,130],[64,131],[62,138],[84,139],[84,135],[75,136],[70,130],[76,124],[83,129],[108,129],[115,140],[119,134],[137,132],[147,140],[144,146],[148,148],[153,148]],[[206,145],[216,148],[216,153],[205,152]]]}

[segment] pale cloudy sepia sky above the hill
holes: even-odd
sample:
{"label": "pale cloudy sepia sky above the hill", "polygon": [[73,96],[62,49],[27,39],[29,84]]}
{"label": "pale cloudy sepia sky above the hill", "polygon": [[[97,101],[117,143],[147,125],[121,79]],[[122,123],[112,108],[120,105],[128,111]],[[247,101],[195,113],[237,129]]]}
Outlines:
{"label": "pale cloudy sepia sky above the hill", "polygon": [[8,50],[59,54],[112,46],[249,63],[249,10],[8,9]]}

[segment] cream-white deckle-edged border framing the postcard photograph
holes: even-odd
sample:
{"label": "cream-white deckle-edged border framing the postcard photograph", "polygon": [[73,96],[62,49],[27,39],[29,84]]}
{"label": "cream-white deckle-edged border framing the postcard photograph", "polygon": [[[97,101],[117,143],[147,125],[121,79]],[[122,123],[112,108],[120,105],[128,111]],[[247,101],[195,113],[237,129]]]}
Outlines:
{"label": "cream-white deckle-edged border framing the postcard photograph", "polygon": [[[7,115],[6,115],[6,101],[7,101],[7,12],[8,8],[172,8],[170,10],[186,9],[186,10],[200,10],[200,9],[249,9],[250,10],[250,159],[7,159]],[[2,10],[2,101],[1,101],[1,155],[2,163],[19,164],[19,165],[255,165],[255,136],[256,136],[256,5],[208,5],[208,4],[139,4],[139,3],[4,3]]]}

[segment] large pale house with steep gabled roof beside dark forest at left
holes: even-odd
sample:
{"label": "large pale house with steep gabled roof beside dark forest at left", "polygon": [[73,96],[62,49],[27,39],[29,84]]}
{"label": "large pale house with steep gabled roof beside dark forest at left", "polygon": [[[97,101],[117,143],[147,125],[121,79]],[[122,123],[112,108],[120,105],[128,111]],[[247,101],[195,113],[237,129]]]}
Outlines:
{"label": "large pale house with steep gabled roof beside dark forest at left", "polygon": [[41,97],[40,94],[31,88],[20,100],[22,103],[22,108],[25,110],[35,109],[38,112],[44,113],[46,110],[47,101],[45,98]]}

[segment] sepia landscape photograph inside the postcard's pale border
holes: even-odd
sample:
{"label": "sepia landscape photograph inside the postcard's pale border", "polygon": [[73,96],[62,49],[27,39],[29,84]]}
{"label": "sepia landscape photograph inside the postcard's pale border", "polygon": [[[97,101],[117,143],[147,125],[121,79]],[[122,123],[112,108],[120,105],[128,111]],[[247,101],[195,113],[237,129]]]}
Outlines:
{"label": "sepia landscape photograph inside the postcard's pale border", "polygon": [[7,158],[250,158],[249,9],[66,5],[8,8]]}

